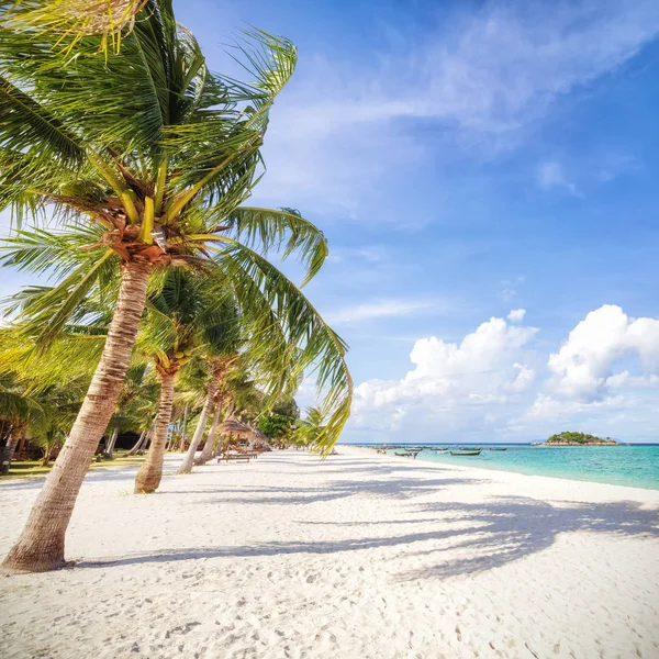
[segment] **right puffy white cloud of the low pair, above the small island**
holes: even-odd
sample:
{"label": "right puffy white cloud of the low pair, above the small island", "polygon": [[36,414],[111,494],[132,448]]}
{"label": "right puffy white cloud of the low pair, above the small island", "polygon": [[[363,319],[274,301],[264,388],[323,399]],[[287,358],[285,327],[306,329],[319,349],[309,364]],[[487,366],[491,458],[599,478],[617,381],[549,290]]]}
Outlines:
{"label": "right puffy white cloud of the low pair, above the small island", "polygon": [[619,306],[605,304],[570,332],[549,356],[548,368],[554,395],[582,402],[602,400],[612,388],[651,383],[659,373],[659,320],[633,320]]}

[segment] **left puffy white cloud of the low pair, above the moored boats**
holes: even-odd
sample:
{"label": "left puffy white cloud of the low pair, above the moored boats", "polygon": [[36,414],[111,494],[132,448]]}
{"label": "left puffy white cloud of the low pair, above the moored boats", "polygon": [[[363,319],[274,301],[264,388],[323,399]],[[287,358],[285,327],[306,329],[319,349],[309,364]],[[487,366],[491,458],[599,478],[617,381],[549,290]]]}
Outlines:
{"label": "left puffy white cloud of the low pair, above the moored boats", "polygon": [[492,317],[460,343],[418,339],[410,355],[414,368],[402,380],[357,387],[354,425],[396,431],[404,422],[437,436],[495,423],[498,407],[514,404],[535,380],[528,345],[536,332]]}

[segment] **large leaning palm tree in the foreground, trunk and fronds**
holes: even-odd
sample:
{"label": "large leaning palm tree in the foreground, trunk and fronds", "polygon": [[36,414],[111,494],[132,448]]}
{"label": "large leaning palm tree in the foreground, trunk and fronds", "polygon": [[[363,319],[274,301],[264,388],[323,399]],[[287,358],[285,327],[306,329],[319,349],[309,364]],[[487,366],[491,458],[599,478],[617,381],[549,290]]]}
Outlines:
{"label": "large leaning palm tree in the foreground, trunk and fronds", "polygon": [[[0,27],[0,209],[11,206],[19,225],[45,211],[54,222],[74,223],[64,234],[19,235],[5,257],[37,272],[55,264],[63,277],[24,310],[26,327],[42,344],[54,340],[89,291],[105,287],[118,266],[122,270],[91,384],[5,569],[40,571],[65,562],[65,532],[114,411],[155,268],[208,261],[235,277],[234,290],[254,316],[263,315],[259,303],[273,313],[278,299],[299,291],[292,284],[289,291],[288,280],[253,245],[281,245],[288,231],[284,256],[300,253],[308,278],[323,264],[324,236],[299,213],[238,208],[257,181],[269,109],[295,64],[288,41],[263,32],[248,37],[257,47],[243,52],[256,80],[244,85],[208,69],[166,0],[144,3],[122,36],[120,55],[100,53],[102,36]],[[71,233],[87,234],[86,253],[74,255]],[[269,282],[277,290],[264,293]],[[253,304],[248,289],[259,290],[263,300]],[[321,358],[336,434],[349,413],[345,345],[317,322],[315,310],[298,305],[303,315],[295,338],[306,336],[309,364]],[[263,335],[268,337],[266,327]]]}

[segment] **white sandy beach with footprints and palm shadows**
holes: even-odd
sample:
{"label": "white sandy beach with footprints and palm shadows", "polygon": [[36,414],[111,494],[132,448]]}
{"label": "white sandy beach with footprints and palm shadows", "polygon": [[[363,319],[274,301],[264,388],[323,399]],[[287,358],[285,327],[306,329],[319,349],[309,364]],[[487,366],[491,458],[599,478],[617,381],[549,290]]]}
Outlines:
{"label": "white sandy beach with footprints and palm shadows", "polygon": [[93,472],[78,567],[0,578],[0,656],[659,657],[659,492],[339,451]]}

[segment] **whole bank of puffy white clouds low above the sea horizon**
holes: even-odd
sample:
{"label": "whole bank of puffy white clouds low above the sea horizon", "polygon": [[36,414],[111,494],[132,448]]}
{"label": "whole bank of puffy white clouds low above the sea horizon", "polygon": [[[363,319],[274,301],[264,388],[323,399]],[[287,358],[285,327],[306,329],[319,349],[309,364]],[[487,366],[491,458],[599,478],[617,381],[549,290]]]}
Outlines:
{"label": "whole bank of puffy white clouds low above the sea horizon", "polygon": [[656,436],[658,319],[605,304],[543,356],[524,315],[490,319],[456,343],[416,340],[401,380],[356,388],[351,431],[420,442],[532,440],[568,427],[625,440]]}

